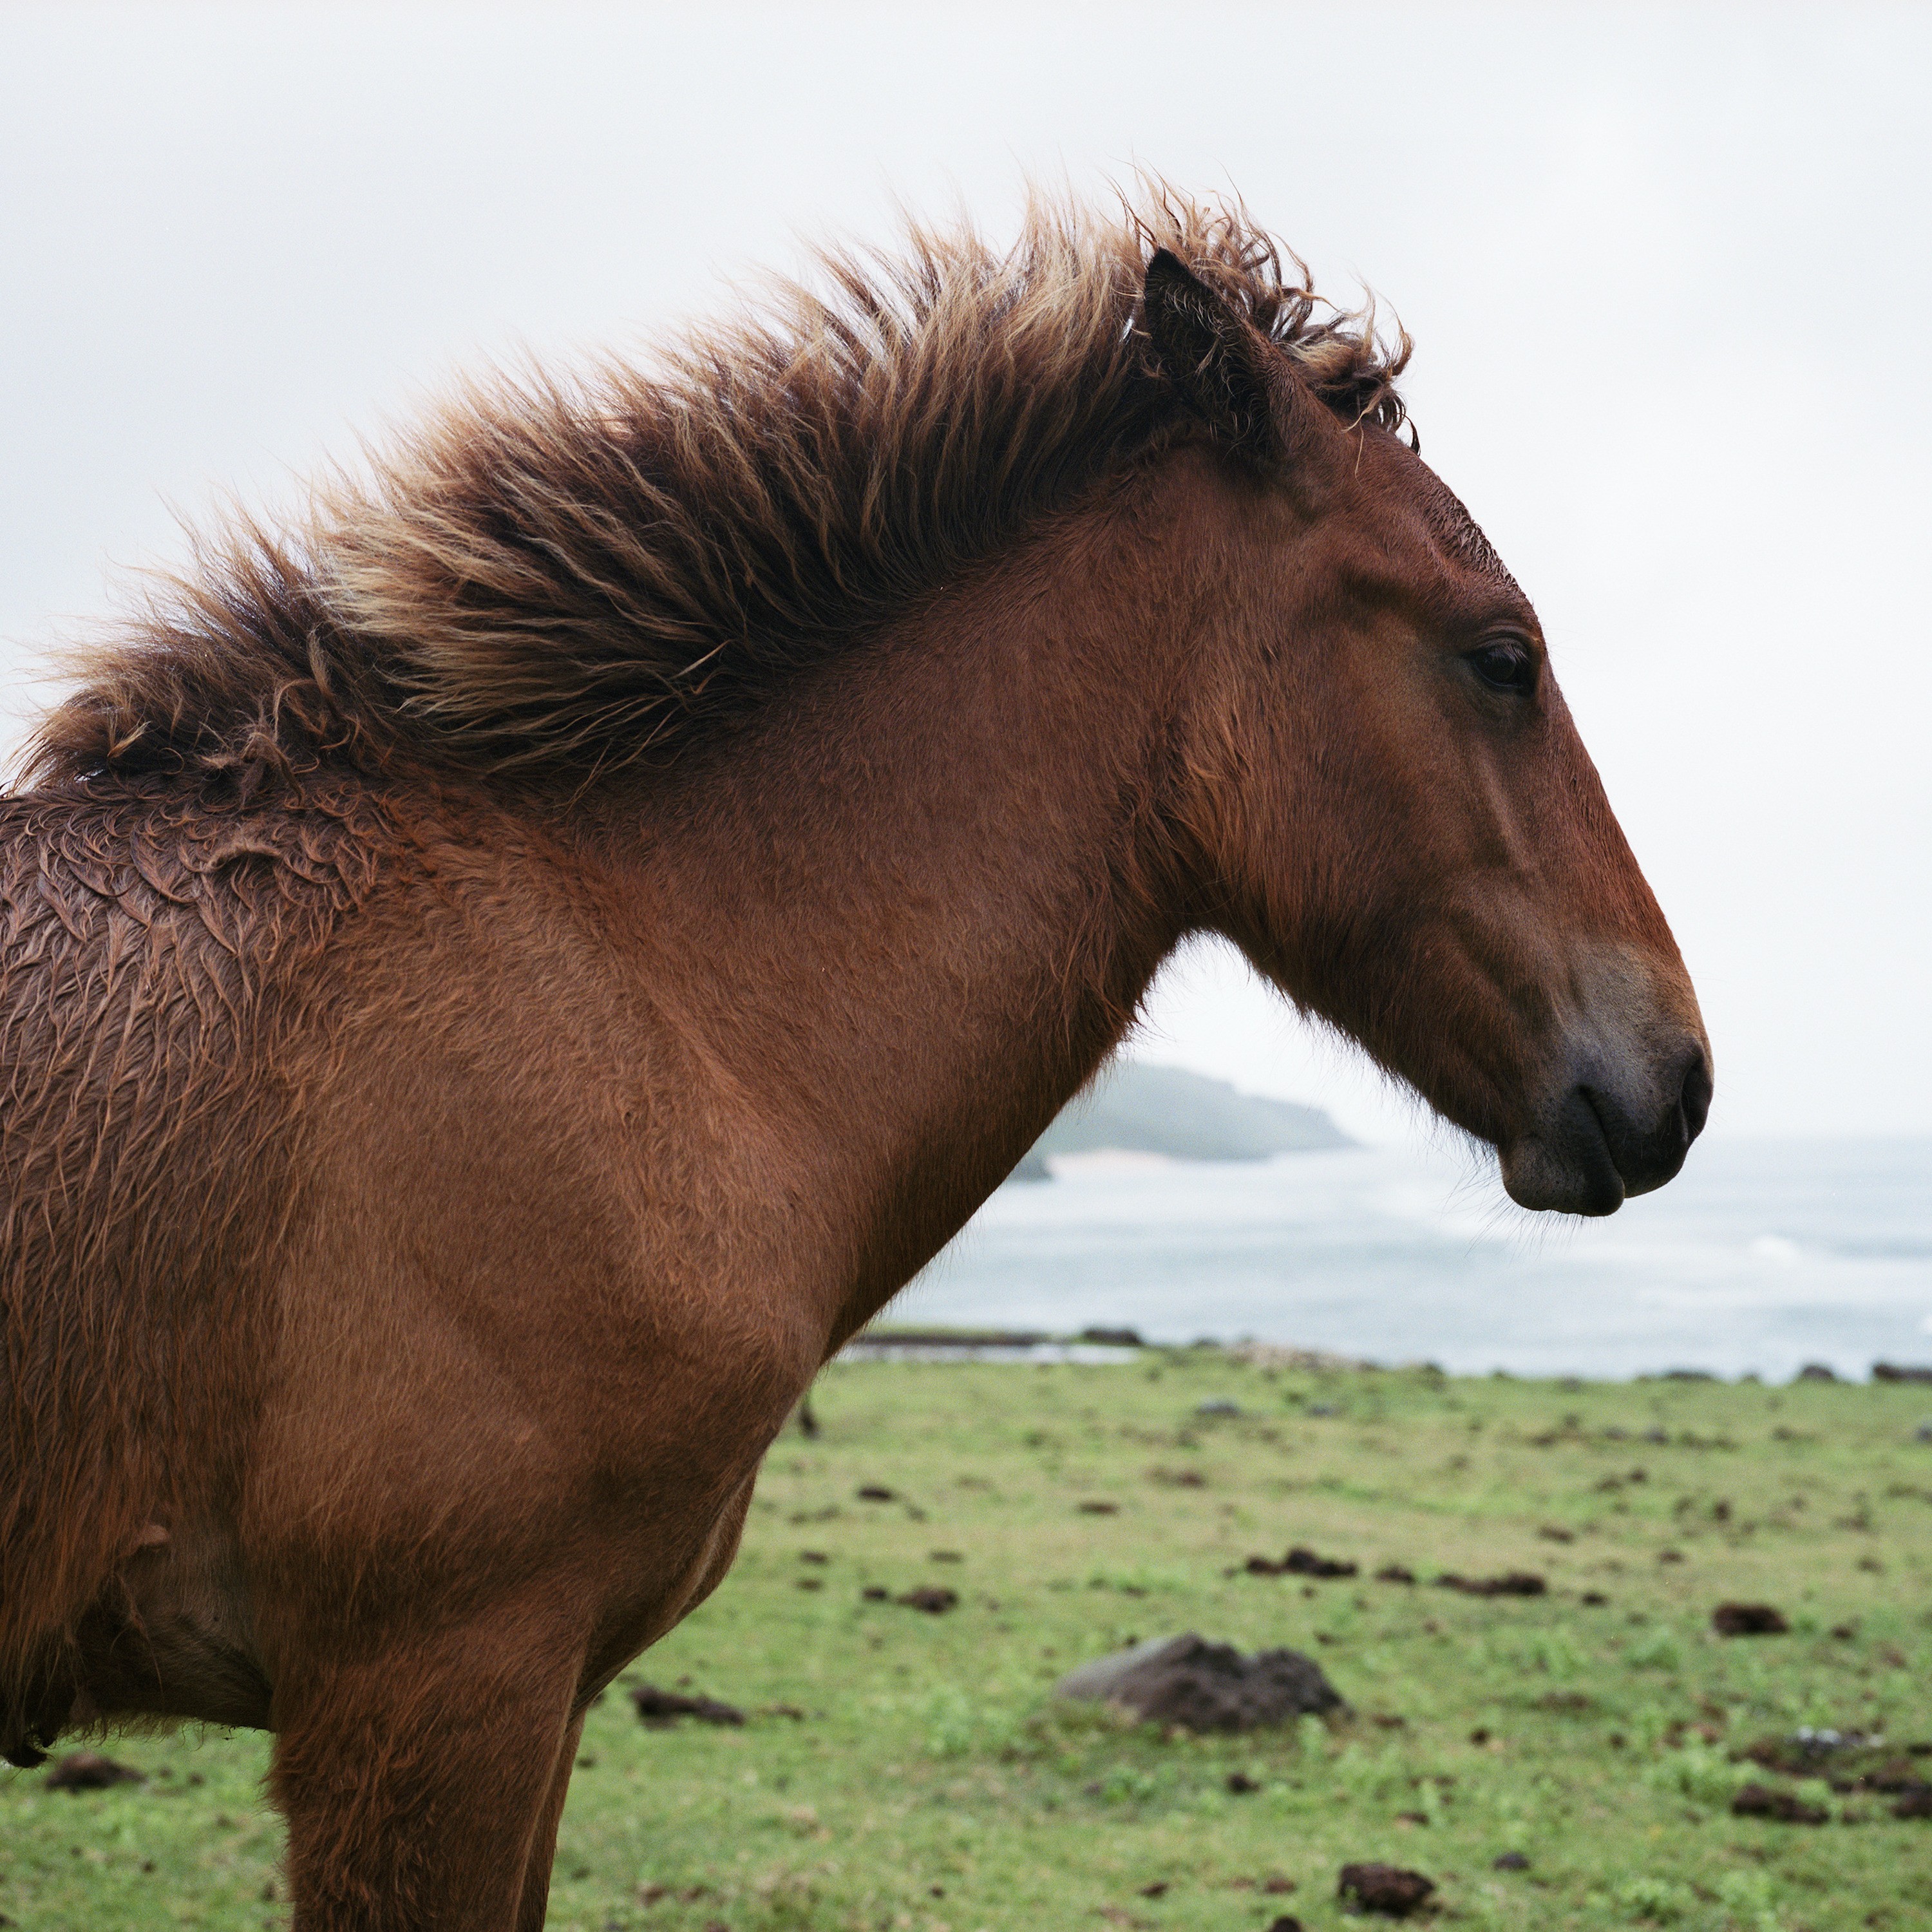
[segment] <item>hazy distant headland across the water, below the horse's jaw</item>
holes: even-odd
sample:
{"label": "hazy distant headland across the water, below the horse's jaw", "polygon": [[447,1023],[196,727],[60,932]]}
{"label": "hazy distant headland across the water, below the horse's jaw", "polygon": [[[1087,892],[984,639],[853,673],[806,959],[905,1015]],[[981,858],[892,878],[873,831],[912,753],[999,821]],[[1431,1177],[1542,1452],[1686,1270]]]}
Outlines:
{"label": "hazy distant headland across the water, below the horse's jaw", "polygon": [[1055,1153],[1165,1153],[1179,1161],[1265,1161],[1273,1153],[1347,1148],[1320,1107],[1240,1094],[1179,1066],[1122,1061],[1066,1105],[1012,1171],[1045,1180]]}

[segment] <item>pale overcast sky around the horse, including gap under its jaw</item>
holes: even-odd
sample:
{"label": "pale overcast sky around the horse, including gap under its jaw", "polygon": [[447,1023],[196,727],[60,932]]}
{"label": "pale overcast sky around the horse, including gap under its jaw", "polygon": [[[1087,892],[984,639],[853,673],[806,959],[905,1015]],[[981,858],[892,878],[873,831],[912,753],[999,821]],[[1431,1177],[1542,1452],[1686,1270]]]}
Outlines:
{"label": "pale overcast sky around the horse, including gap under its jaw", "polygon": [[[1418,342],[1698,981],[1714,1130],[1932,1132],[1932,10],[0,8],[0,697],[170,504],[895,199],[1236,187]],[[1229,956],[1148,1051],[1405,1111]]]}

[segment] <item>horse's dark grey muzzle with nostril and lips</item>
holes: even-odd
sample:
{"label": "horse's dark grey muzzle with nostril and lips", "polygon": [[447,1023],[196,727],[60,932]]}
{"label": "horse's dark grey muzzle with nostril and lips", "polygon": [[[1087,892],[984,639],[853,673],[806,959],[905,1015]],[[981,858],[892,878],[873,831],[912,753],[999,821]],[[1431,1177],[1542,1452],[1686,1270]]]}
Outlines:
{"label": "horse's dark grey muzzle with nostril and lips", "polygon": [[1710,1115],[1710,1053],[1679,1036],[1644,1055],[1571,1057],[1553,1103],[1503,1142],[1503,1186],[1519,1208],[1615,1213],[1683,1167]]}

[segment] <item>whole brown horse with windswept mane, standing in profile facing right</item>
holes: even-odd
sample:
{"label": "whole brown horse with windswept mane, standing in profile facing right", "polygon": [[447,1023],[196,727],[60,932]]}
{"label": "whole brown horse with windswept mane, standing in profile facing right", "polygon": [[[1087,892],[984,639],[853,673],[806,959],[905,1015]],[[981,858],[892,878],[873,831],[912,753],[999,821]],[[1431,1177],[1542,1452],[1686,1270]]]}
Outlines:
{"label": "whole brown horse with windswept mane, standing in profile facing right", "polygon": [[1406,340],[1165,195],[825,269],[201,556],[0,800],[0,1745],[272,1729],[301,1928],[541,1924],[585,1704],[1184,935],[1528,1208],[1704,1121]]}

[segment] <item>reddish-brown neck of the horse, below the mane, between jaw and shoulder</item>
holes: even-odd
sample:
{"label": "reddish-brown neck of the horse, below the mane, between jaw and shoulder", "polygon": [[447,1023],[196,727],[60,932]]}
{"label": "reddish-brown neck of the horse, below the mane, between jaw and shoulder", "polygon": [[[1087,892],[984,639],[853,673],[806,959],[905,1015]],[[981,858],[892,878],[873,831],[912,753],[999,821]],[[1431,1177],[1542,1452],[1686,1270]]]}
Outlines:
{"label": "reddish-brown neck of the horse, below the mane, between jaw and shoulder", "polygon": [[854,1256],[835,1327],[999,1184],[1180,935],[1159,808],[1188,622],[1146,570],[1126,531],[1063,531],[647,806],[643,995]]}

